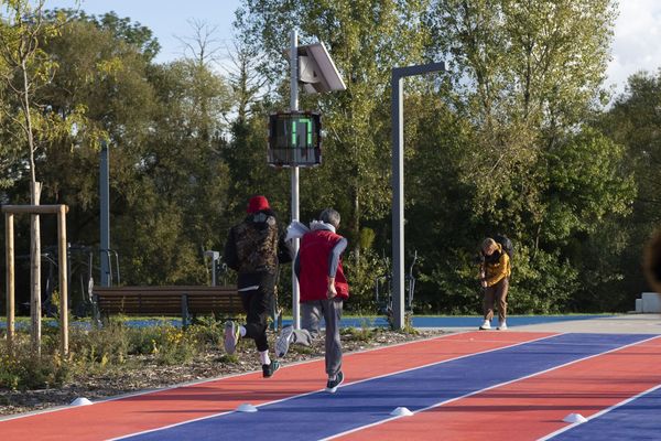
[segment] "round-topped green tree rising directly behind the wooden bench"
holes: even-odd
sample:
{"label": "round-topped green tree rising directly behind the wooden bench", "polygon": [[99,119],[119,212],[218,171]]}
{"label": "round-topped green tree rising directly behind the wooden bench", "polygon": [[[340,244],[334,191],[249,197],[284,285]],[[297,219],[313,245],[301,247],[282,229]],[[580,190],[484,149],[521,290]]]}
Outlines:
{"label": "round-topped green tree rising directly behind the wooden bench", "polygon": [[[218,75],[189,60],[155,67],[150,80],[156,110],[140,171],[150,197],[133,201],[133,209],[150,227],[136,224],[134,217],[131,225],[167,237],[153,243],[145,229],[141,245],[131,245],[126,236],[124,247],[141,261],[133,275],[137,279],[205,282],[202,251],[219,245],[229,185],[220,155],[227,87]],[[144,252],[150,249],[153,252]],[[164,263],[162,256],[171,257]]]}

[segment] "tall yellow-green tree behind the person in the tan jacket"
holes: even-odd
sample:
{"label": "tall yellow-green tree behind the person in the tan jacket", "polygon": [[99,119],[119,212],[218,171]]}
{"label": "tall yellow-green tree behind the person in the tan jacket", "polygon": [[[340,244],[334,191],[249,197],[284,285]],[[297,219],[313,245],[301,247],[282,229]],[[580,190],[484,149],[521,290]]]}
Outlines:
{"label": "tall yellow-green tree behind the person in the tan jacket", "polygon": [[[455,295],[455,305],[456,293],[465,293],[456,308],[477,306],[475,245],[465,244],[496,233],[508,233],[517,244],[514,311],[566,308],[584,280],[582,255],[574,247],[595,237],[609,215],[628,213],[632,183],[619,173],[621,149],[584,128],[602,97],[614,18],[615,6],[607,0],[432,4],[425,18],[432,30],[430,51],[441,53],[451,66],[449,87],[437,96],[447,109],[441,108],[438,118],[447,120],[430,123],[420,105],[410,111],[422,117],[410,123],[424,127],[410,142],[421,147],[410,155],[421,170],[420,190],[409,200],[414,205],[427,202],[411,209],[429,209],[425,218],[440,219],[432,223],[440,230],[418,233],[419,241],[440,248],[430,251],[423,270],[433,275],[436,292]],[[430,140],[424,128],[435,125],[460,146],[452,148],[453,142],[437,135],[433,148],[451,149],[436,153],[443,155],[443,165],[427,160],[425,151]],[[582,166],[588,158],[594,166]],[[434,178],[446,175],[449,182]],[[438,183],[444,190],[422,194]],[[445,204],[452,204],[451,213]],[[466,220],[453,218],[452,209]],[[599,275],[609,269],[602,268]]]}

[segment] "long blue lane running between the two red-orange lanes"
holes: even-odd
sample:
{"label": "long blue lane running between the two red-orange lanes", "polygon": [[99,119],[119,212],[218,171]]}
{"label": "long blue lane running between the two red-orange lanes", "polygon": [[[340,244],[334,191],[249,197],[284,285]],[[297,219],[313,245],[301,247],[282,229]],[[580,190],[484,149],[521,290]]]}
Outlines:
{"label": "long blue lane running between the two red-orange lanes", "polygon": [[[452,359],[338,389],[231,412],[129,440],[318,440],[649,338],[640,334],[563,334]],[[274,377],[273,379],[275,379]],[[350,380],[350,378],[348,378]]]}

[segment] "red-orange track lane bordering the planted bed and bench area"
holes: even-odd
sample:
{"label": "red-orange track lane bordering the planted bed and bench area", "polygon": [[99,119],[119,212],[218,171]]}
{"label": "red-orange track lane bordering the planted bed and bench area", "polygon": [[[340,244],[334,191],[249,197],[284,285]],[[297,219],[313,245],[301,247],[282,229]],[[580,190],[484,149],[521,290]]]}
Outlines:
{"label": "red-orange track lane bordering the planted bed and bench area", "polygon": [[[449,334],[432,340],[347,354],[347,384],[507,347],[553,333]],[[246,343],[245,343],[246,344]],[[324,361],[281,368],[270,379],[260,373],[182,386],[0,421],[4,440],[101,440],[232,411],[240,404],[260,405],[325,387]]]}

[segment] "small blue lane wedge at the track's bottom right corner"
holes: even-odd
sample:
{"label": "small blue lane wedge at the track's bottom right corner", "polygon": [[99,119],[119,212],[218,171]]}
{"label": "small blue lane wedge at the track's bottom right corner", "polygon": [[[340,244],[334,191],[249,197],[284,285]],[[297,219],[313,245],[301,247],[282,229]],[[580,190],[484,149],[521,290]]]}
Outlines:
{"label": "small blue lane wedge at the track's bottom right corner", "polygon": [[597,438],[661,440],[661,388],[550,439],[592,441]]}

